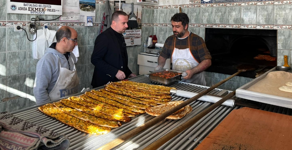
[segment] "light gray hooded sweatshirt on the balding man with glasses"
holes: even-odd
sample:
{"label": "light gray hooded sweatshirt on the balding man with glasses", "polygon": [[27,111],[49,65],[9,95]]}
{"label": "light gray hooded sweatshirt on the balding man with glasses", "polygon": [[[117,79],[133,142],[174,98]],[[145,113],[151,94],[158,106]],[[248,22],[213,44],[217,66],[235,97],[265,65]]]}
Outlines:
{"label": "light gray hooded sweatshirt on the balding man with glasses", "polygon": [[[54,43],[50,46],[54,47]],[[62,68],[73,70],[76,58],[73,52],[70,52],[69,64],[64,54],[53,48],[46,48],[45,54],[36,64],[36,79],[33,86],[33,94],[36,98],[36,104],[42,104],[51,101],[49,94],[60,74],[60,64]],[[73,58],[73,61],[72,59]]]}

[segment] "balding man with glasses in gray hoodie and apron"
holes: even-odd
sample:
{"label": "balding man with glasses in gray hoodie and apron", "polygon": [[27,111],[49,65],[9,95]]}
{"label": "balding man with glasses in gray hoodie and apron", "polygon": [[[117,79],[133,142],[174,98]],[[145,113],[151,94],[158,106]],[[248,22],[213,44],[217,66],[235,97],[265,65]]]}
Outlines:
{"label": "balding man with glasses in gray hoodie and apron", "polygon": [[46,48],[45,54],[36,65],[36,79],[33,94],[36,104],[77,93],[79,78],[72,53],[77,45],[77,32],[62,26],[56,32],[57,43]]}

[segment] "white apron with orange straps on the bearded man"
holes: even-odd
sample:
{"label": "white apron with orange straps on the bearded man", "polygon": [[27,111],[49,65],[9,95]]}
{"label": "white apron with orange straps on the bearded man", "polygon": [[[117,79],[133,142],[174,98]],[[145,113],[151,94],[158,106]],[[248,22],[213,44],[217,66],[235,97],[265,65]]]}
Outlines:
{"label": "white apron with orange straps on the bearded man", "polygon": [[[199,62],[191,53],[190,40],[188,41],[188,47],[187,49],[177,49],[176,39],[174,40],[174,49],[171,55],[172,70],[186,71],[199,65]],[[191,79],[186,79],[184,82],[206,86],[204,72],[194,74]]]}

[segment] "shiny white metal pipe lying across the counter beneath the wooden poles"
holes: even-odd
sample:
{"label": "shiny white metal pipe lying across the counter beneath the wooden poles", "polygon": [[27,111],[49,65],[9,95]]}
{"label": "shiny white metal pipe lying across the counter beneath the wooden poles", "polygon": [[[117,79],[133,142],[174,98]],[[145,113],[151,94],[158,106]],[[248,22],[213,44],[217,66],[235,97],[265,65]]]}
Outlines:
{"label": "shiny white metal pipe lying across the counter beneath the wooden poles", "polygon": [[[170,94],[175,94],[176,96],[181,96],[181,97],[185,97],[185,98],[192,98],[192,97],[198,95],[199,93],[171,89]],[[210,96],[210,95],[203,95],[202,97],[198,98],[198,100],[200,100],[200,101],[206,101],[206,102],[210,102],[210,103],[216,103],[220,99],[221,99],[220,97]],[[222,105],[235,107],[235,101],[232,99],[228,99]]]}

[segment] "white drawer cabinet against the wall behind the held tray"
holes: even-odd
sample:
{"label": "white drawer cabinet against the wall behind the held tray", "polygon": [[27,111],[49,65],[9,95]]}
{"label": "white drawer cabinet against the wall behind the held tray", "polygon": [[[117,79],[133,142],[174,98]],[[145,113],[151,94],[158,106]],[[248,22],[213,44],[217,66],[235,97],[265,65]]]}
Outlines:
{"label": "white drawer cabinet against the wall behind the held tray", "polygon": [[[139,74],[148,74],[154,72],[155,67],[158,65],[158,56],[138,54],[137,64],[139,65]],[[166,59],[164,69],[170,69],[170,58]]]}

